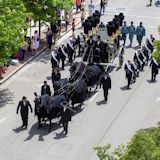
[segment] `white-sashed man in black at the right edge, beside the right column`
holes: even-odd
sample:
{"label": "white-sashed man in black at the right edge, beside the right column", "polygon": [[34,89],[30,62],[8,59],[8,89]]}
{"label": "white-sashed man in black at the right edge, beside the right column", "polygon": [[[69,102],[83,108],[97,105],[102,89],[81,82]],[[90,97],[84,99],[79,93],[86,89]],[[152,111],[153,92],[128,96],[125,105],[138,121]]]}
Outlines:
{"label": "white-sashed man in black at the right edge, beside the right column", "polygon": [[158,74],[158,67],[159,67],[159,64],[155,58],[152,58],[150,67],[151,67],[151,81],[155,81],[156,75]]}

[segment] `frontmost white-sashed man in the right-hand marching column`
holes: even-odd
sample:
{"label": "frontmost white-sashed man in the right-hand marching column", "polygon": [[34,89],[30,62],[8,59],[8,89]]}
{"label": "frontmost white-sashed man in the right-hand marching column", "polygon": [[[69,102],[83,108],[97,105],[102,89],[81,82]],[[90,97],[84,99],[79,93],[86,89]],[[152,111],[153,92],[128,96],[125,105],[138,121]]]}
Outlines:
{"label": "frontmost white-sashed man in the right-hand marching column", "polygon": [[126,78],[128,81],[127,89],[130,89],[130,84],[131,84],[131,80],[134,72],[134,68],[130,60],[127,61],[127,63],[124,66],[124,69],[126,71]]}

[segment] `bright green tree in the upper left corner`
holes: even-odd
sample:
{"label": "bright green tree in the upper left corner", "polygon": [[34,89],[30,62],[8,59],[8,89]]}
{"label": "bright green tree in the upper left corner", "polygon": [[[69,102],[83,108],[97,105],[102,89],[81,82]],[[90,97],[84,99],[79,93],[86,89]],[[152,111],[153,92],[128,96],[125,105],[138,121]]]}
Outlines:
{"label": "bright green tree in the upper left corner", "polygon": [[25,11],[21,0],[0,1],[0,65],[25,44]]}

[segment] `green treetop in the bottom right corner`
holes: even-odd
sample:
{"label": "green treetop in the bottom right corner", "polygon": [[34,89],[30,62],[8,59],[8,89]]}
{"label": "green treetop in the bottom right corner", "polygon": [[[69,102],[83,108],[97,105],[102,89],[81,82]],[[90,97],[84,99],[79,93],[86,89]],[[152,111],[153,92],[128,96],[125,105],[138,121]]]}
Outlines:
{"label": "green treetop in the bottom right corner", "polygon": [[109,147],[94,149],[100,160],[160,160],[160,128],[138,131],[127,146],[120,146],[113,153]]}

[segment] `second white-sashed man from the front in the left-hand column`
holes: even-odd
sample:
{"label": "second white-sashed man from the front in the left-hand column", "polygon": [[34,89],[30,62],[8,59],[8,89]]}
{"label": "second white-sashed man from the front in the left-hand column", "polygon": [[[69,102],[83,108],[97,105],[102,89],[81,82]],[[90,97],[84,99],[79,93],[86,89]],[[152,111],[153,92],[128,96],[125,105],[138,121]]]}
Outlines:
{"label": "second white-sashed man from the front in the left-hand column", "polygon": [[64,44],[62,44],[59,47],[58,52],[59,52],[60,60],[62,61],[62,70],[64,70],[64,63],[65,63],[65,60],[68,56],[67,55],[67,47],[65,47]]}

